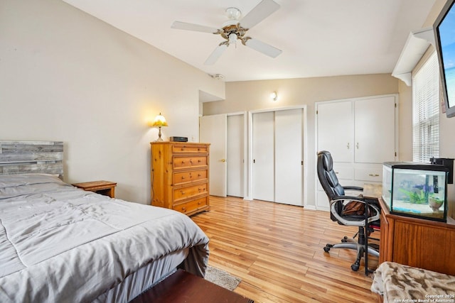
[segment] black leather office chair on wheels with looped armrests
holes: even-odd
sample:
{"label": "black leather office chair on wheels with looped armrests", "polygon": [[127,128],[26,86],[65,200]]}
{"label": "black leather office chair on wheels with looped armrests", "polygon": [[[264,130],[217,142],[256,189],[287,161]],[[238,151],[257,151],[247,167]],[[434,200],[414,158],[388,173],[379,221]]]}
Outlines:
{"label": "black leather office chair on wheels with looped armrests", "polygon": [[[357,259],[350,268],[357,271],[360,268],[360,260],[365,255],[365,275],[368,275],[368,253],[379,257],[379,246],[368,244],[369,234],[374,231],[373,226],[379,226],[380,208],[378,201],[359,197],[346,196],[345,190],[363,191],[362,187],[343,187],[338,183],[338,177],[333,170],[331,153],[322,150],[318,153],[317,171],[319,182],[330,201],[330,212],[332,221],[347,226],[358,226],[358,233],[353,238],[345,236],[341,243],[327,244],[324,251],[328,253],[331,248],[348,248],[357,250]],[[372,203],[373,202],[373,203]],[[352,209],[354,208],[354,209]],[[348,211],[350,209],[350,211]],[[358,240],[355,241],[355,237]],[[365,250],[368,253],[365,253]]]}

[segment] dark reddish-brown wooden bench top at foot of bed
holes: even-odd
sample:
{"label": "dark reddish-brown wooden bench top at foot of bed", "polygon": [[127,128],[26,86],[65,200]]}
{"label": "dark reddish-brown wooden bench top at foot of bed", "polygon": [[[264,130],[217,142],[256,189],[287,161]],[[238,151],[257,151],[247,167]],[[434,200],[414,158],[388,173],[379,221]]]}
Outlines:
{"label": "dark reddish-brown wooden bench top at foot of bed", "polygon": [[177,270],[131,303],[252,303],[251,299],[226,290],[185,270]]}

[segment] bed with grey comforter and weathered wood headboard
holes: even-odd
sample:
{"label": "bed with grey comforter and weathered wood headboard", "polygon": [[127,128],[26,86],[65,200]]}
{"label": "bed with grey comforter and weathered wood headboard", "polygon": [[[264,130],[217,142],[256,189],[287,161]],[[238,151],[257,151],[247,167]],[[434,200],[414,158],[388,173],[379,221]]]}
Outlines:
{"label": "bed with grey comforter and weathered wood headboard", "polygon": [[188,216],[62,176],[63,143],[0,141],[0,302],[128,302],[176,268],[205,275]]}

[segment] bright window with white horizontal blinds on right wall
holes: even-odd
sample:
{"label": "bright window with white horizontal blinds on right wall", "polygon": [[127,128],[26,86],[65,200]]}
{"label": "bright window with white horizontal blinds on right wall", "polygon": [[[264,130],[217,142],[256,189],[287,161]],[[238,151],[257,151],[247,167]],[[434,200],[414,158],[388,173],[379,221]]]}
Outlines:
{"label": "bright window with white horizontal blinds on right wall", "polygon": [[412,79],[412,160],[439,157],[439,70],[434,53]]}

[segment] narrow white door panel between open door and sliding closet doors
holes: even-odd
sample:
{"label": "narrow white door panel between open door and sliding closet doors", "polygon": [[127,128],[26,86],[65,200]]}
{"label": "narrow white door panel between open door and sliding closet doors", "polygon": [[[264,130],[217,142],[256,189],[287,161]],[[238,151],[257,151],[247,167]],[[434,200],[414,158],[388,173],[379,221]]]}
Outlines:
{"label": "narrow white door panel between open door and sliding closet doors", "polygon": [[228,196],[243,194],[243,123],[244,115],[228,116]]}

